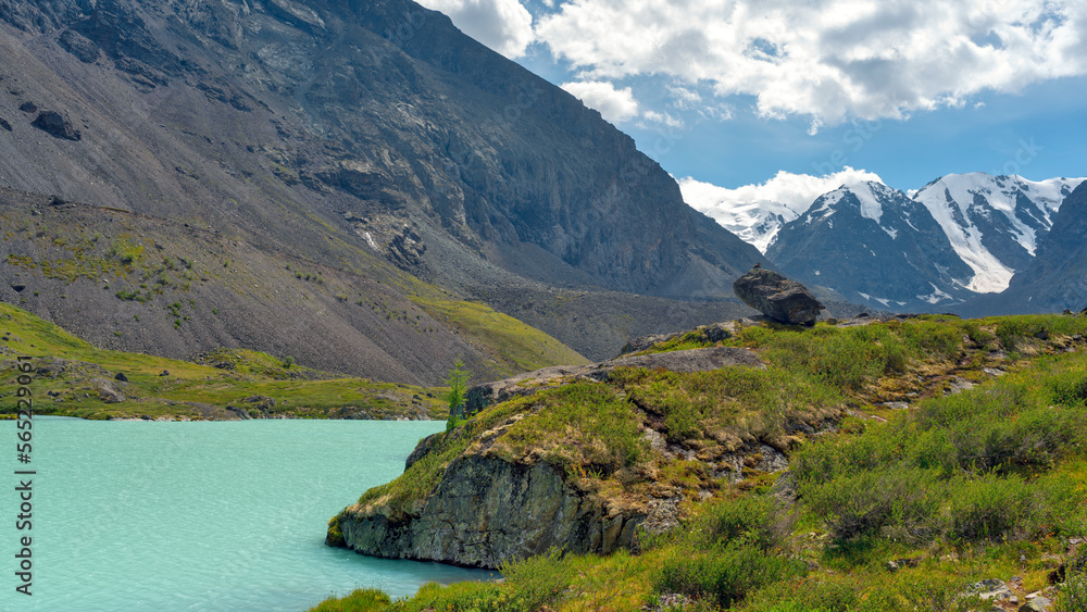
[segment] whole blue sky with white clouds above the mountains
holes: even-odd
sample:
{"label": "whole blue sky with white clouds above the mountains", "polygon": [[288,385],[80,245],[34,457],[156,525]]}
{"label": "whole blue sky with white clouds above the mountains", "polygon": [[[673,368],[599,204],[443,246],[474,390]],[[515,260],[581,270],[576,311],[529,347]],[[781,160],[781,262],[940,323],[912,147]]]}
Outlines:
{"label": "whole blue sky with white clouds above the mountains", "polygon": [[724,197],[1087,175],[1087,0],[421,3]]}

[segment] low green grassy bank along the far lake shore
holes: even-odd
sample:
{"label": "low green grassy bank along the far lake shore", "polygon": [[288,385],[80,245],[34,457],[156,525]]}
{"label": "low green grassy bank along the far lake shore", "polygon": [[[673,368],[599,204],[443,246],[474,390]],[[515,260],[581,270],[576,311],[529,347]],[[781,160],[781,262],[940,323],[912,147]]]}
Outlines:
{"label": "low green grassy bank along the far lake shore", "polygon": [[[39,414],[237,419],[228,405],[253,416],[316,419],[445,419],[447,412],[442,388],[342,377],[249,350],[222,349],[197,363],[102,350],[0,303],[0,379],[14,378],[20,355],[34,358],[30,388]],[[123,401],[104,388],[123,395]],[[0,415],[14,412],[14,387],[3,391],[10,399],[0,404]]]}

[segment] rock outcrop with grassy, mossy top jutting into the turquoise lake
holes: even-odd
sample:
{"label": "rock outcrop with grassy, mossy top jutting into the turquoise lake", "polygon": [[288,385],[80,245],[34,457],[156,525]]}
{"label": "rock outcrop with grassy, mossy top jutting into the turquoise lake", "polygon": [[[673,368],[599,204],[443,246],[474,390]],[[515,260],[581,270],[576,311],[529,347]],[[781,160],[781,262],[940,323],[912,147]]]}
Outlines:
{"label": "rock outcrop with grassy, mossy top jutting into the turquoise lake", "polygon": [[[741,440],[716,432],[716,437],[728,442],[727,448],[707,452],[669,441],[666,435],[671,434],[661,414],[648,416],[655,409],[628,402],[626,394],[614,386],[612,375],[620,367],[641,367],[660,375],[660,370],[697,373],[725,366],[765,367],[747,349],[711,347],[587,366],[548,367],[473,387],[468,397],[474,409],[468,412],[512,401],[477,414],[449,433],[423,439],[405,461],[403,478],[413,483],[411,492],[397,485],[372,489],[329,523],[326,544],[373,557],[478,567],[497,567],[505,560],[551,548],[601,554],[636,548],[638,525],[651,530],[674,525],[677,504],[684,499],[683,491],[671,485],[646,483],[646,475],[655,473],[658,461],[703,461],[708,478],[730,477],[747,469],[776,472],[788,466],[784,454],[752,436]],[[628,427],[625,439],[638,440],[632,444],[641,449],[636,453],[640,459],[612,462],[607,450],[612,442],[603,438],[586,441],[578,432],[563,432],[566,426],[561,424],[551,434],[542,433],[550,430],[548,426],[538,428],[540,411],[548,410],[542,407],[569,401],[555,399],[565,397],[563,390],[548,395],[545,389],[575,385],[580,385],[576,392],[586,394],[579,398],[605,397],[610,399],[600,405],[625,404],[616,410],[629,411],[626,419],[612,413],[605,417],[610,420],[605,428],[617,432]],[[533,394],[539,396],[514,399]],[[580,403],[583,399],[573,401]],[[591,412],[597,414],[597,409]],[[638,414],[647,416],[644,420]],[[525,445],[526,435],[545,437]],[[571,436],[580,441],[571,441]],[[564,454],[574,448],[580,449],[571,451],[574,459]],[[596,459],[577,454],[582,452]],[[597,476],[589,475],[594,471]],[[599,488],[600,474],[619,473],[625,474],[624,482],[641,483],[640,488],[632,485],[634,488],[624,488],[622,494]],[[435,484],[420,490],[420,482]]]}

